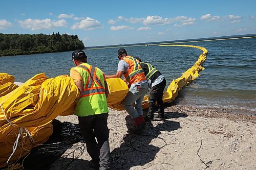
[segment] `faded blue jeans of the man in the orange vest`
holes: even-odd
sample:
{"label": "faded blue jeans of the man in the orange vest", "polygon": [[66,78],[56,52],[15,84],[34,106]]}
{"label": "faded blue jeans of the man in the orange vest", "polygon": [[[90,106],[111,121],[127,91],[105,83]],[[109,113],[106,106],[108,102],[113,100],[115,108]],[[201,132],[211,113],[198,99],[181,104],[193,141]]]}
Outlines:
{"label": "faded blue jeans of the man in the orange vest", "polygon": [[[142,101],[144,95],[147,93],[148,83],[144,83],[138,86],[131,86],[129,92],[125,96],[123,106],[127,113],[133,118],[137,118],[143,114]],[[132,106],[135,103],[135,108]]]}

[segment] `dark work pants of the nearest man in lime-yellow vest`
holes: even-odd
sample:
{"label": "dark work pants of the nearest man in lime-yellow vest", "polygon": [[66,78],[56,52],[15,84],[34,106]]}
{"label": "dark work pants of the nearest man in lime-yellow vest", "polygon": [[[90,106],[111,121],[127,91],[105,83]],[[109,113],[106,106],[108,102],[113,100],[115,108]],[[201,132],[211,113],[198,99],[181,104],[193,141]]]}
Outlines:
{"label": "dark work pants of the nearest man in lime-yellow vest", "polygon": [[78,116],[79,126],[86,141],[87,152],[94,163],[99,162],[99,169],[110,169],[108,116],[108,113]]}

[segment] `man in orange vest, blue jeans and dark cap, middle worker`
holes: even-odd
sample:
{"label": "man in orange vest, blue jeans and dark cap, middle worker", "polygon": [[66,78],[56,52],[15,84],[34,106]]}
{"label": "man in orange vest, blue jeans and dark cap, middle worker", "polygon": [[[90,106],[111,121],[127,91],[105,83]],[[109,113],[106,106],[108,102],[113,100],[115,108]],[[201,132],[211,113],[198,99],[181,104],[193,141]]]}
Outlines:
{"label": "man in orange vest, blue jeans and dark cap, middle worker", "polygon": [[[138,60],[128,56],[124,48],[120,48],[117,52],[117,57],[120,60],[117,66],[115,75],[106,75],[108,78],[121,78],[124,76],[128,83],[129,92],[125,96],[123,106],[127,113],[135,122],[134,134],[140,134],[145,128],[145,120],[142,112],[142,101],[147,92],[148,84]],[[135,103],[135,108],[133,104]]]}

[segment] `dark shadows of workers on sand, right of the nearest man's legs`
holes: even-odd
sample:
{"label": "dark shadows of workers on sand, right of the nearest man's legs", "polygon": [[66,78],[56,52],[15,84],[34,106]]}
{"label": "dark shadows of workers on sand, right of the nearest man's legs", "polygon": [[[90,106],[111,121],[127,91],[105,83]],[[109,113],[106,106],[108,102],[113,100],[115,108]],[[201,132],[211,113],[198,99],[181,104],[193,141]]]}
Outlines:
{"label": "dark shadows of workers on sand, right of the nearest man's legs", "polygon": [[[141,135],[133,135],[129,133],[134,123],[132,118],[127,115],[125,120],[128,134],[123,136],[124,142],[121,143],[120,147],[111,152],[112,169],[130,169],[151,162],[159,150],[170,142],[159,137],[161,131],[170,132],[181,128],[179,122],[167,119],[179,117],[187,117],[187,115],[178,112],[166,112],[166,119],[161,120],[161,123],[153,126],[154,122],[148,122]],[[157,143],[158,147],[152,145],[152,142]]]}

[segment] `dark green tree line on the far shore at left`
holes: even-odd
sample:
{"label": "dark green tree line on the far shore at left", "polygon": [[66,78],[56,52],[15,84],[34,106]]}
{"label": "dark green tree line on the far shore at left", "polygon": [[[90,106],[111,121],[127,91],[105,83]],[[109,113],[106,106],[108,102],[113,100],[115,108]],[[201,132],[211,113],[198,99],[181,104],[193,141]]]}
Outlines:
{"label": "dark green tree line on the far shore at left", "polygon": [[0,33],[0,56],[68,52],[84,48],[77,35],[2,34]]}

